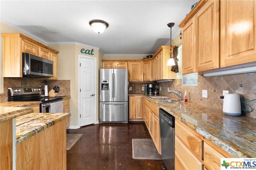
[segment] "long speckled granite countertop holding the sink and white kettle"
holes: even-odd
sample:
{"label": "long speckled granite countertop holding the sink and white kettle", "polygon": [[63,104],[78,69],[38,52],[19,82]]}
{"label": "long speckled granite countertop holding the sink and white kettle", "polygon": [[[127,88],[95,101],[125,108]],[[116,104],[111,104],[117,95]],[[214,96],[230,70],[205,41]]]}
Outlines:
{"label": "long speckled granite countertop holding the sink and white kettle", "polygon": [[160,103],[157,98],[142,95],[234,157],[256,158],[256,119],[228,116],[222,109],[191,102]]}

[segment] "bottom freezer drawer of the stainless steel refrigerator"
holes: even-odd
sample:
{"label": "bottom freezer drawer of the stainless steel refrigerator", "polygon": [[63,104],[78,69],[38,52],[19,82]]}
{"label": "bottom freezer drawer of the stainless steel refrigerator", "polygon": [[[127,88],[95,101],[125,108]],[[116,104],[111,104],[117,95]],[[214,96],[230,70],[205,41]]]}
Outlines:
{"label": "bottom freezer drawer of the stainless steel refrigerator", "polygon": [[101,122],[128,122],[128,102],[100,102]]}

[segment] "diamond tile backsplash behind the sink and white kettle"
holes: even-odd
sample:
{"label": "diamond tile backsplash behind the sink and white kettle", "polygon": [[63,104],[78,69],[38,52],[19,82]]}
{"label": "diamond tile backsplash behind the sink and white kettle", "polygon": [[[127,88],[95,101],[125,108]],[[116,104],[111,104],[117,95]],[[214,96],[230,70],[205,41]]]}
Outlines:
{"label": "diamond tile backsplash behind the sink and white kettle", "polygon": [[[132,87],[129,93],[145,92],[142,90],[142,86],[145,86],[145,83],[130,82],[129,86]],[[169,87],[170,90],[178,89],[182,91],[183,95],[184,92],[187,92],[188,102],[222,109],[223,100],[220,99],[222,90],[228,90],[229,93],[237,93],[244,101],[256,99],[256,72],[214,77],[198,76],[198,86],[194,87],[181,86],[181,79],[177,79],[172,82],[161,82],[159,83],[160,87],[160,95],[178,99],[175,94],[168,93],[167,88]],[[208,98],[202,98],[202,90],[208,90]],[[252,107],[252,111],[243,113],[243,115],[256,118],[256,100],[246,104]],[[251,110],[249,106],[246,106],[245,109],[246,111]]]}

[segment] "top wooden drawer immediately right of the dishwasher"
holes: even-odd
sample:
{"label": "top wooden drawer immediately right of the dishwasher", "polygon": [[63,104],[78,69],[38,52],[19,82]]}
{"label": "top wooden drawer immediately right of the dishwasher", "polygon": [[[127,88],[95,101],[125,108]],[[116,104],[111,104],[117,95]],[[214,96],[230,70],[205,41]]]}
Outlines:
{"label": "top wooden drawer immediately right of the dishwasher", "polygon": [[175,122],[175,136],[186,145],[186,147],[200,160],[202,160],[203,141],[197,137],[192,130],[185,127],[179,121]]}

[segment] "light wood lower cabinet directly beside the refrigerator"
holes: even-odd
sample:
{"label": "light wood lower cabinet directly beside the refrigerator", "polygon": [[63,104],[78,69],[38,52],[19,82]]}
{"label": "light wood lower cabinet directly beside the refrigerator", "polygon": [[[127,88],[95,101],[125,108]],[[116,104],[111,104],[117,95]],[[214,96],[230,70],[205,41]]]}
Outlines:
{"label": "light wood lower cabinet directly beside the refrigerator", "polygon": [[129,96],[129,119],[142,119],[143,96]]}

